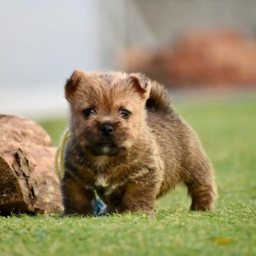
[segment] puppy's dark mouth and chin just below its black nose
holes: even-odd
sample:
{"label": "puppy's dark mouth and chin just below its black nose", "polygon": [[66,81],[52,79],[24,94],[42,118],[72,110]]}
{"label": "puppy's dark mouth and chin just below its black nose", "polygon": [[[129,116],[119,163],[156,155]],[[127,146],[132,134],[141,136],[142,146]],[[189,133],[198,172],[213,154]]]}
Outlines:
{"label": "puppy's dark mouth and chin just below its black nose", "polygon": [[90,151],[95,156],[117,156],[119,154],[118,146],[110,142],[102,142],[90,146]]}

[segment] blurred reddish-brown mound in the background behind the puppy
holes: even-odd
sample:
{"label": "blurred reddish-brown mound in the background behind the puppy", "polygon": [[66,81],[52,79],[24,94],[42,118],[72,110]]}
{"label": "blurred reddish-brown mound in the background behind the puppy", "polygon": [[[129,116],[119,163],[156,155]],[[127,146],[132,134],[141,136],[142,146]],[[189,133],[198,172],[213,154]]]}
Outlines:
{"label": "blurred reddish-brown mound in the background behind the puppy", "polygon": [[201,31],[156,50],[128,50],[124,65],[172,87],[256,86],[256,41],[232,30]]}

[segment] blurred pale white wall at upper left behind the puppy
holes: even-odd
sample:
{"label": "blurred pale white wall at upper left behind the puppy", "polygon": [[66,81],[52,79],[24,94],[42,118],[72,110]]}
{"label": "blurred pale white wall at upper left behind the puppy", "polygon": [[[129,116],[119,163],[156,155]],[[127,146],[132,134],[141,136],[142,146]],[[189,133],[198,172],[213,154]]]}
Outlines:
{"label": "blurred pale white wall at upper left behind the puppy", "polygon": [[66,110],[65,79],[102,68],[99,26],[93,0],[1,0],[0,113]]}

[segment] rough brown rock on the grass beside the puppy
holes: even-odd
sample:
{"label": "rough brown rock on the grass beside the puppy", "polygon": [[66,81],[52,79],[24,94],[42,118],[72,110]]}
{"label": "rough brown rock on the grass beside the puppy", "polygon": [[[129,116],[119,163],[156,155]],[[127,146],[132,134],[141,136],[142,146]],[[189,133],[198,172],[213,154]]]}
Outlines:
{"label": "rough brown rock on the grass beside the puppy", "polygon": [[62,210],[55,149],[35,122],[0,115],[0,215]]}

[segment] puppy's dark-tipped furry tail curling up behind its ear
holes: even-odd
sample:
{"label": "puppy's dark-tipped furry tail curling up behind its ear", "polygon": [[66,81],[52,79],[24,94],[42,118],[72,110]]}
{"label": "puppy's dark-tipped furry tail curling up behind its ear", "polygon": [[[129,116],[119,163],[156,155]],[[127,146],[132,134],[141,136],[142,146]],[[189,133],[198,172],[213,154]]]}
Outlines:
{"label": "puppy's dark-tipped furry tail curling up behind its ear", "polygon": [[172,112],[171,100],[164,85],[156,81],[151,82],[149,99],[146,101],[146,109],[151,111]]}

